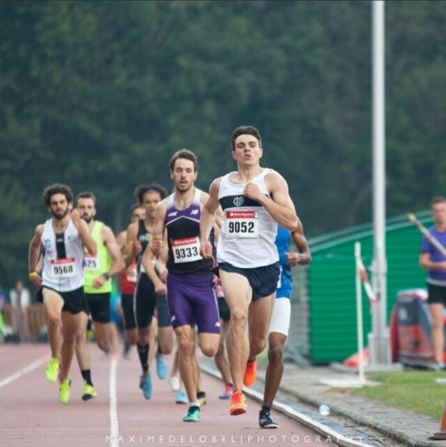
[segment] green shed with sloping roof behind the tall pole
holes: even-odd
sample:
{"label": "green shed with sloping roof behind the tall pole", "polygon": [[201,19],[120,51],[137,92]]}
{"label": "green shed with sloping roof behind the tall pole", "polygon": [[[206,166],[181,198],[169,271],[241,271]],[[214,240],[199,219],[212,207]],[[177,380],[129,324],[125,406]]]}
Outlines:
{"label": "green shed with sloping roof behind the tall pole", "polygon": [[[427,227],[429,211],[417,213]],[[422,235],[406,216],[386,222],[387,321],[397,291],[425,287],[426,272],[418,257]],[[357,351],[354,245],[362,245],[362,259],[369,269],[373,257],[371,224],[352,227],[309,240],[312,263],[294,271],[295,290],[287,352],[309,358],[312,363],[344,361]],[[368,270],[369,280],[371,272]],[[363,299],[364,343],[371,331],[368,298]]]}

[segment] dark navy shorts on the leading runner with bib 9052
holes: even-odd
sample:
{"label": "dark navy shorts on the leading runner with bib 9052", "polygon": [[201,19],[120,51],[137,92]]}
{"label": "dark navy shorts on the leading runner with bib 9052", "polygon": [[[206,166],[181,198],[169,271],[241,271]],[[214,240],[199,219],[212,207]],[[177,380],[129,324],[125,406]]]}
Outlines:
{"label": "dark navy shorts on the leading runner with bib 9052", "polygon": [[231,264],[222,262],[218,264],[218,268],[229,273],[238,273],[239,275],[245,276],[252,288],[252,301],[270,296],[270,294],[273,294],[277,290],[277,282],[279,282],[280,276],[278,262],[270,264],[269,266],[255,268],[234,267]]}

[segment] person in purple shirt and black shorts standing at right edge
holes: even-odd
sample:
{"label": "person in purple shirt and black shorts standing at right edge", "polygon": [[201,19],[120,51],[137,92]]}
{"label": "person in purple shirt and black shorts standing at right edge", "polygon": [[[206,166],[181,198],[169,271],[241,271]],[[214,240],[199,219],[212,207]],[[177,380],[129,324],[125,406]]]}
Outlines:
{"label": "person in purple shirt and black shorts standing at right edge", "polygon": [[[431,201],[434,225],[429,229],[431,235],[446,248],[446,198],[434,197]],[[433,360],[437,370],[443,370],[443,312],[446,304],[446,256],[436,248],[429,238],[423,236],[421,243],[420,266],[429,271],[427,290],[429,310],[432,316]]]}

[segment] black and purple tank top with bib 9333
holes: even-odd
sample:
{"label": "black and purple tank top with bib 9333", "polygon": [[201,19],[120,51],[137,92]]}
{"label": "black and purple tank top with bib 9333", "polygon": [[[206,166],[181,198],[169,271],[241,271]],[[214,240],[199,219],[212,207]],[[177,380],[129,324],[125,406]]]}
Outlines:
{"label": "black and purple tank top with bib 9333", "polygon": [[184,210],[175,207],[175,193],[167,198],[164,225],[167,228],[169,259],[167,270],[171,273],[208,273],[213,259],[200,255],[201,190],[195,189],[194,199]]}

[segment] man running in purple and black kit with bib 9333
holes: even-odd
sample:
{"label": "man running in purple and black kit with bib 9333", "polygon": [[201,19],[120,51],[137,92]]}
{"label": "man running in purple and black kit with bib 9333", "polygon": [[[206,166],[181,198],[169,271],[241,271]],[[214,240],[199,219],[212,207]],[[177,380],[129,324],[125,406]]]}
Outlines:
{"label": "man running in purple and black kit with bib 9333", "polygon": [[220,338],[213,259],[200,255],[200,215],[209,196],[194,186],[198,168],[191,151],[174,153],[170,174],[174,193],[157,206],[150,248],[155,256],[162,255],[163,245],[168,252],[167,304],[178,342],[178,367],[189,400],[183,421],[196,422],[200,404],[194,377],[194,325],[205,356],[215,356]]}

